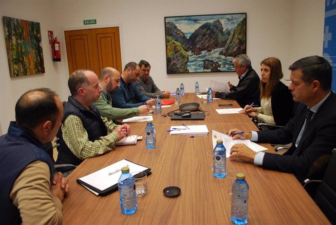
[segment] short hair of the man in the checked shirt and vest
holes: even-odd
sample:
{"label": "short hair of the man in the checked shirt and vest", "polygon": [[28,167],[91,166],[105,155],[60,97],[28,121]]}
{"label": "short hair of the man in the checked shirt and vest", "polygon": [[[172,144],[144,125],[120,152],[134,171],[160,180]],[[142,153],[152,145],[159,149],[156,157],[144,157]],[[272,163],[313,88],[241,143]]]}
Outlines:
{"label": "short hair of the man in the checked shirt and vest", "polygon": [[[77,69],[69,77],[68,87],[71,96],[75,96],[78,93],[78,88],[86,88],[90,85],[89,79],[85,75],[86,71],[92,71],[89,69]],[[93,72],[93,71],[92,71]]]}

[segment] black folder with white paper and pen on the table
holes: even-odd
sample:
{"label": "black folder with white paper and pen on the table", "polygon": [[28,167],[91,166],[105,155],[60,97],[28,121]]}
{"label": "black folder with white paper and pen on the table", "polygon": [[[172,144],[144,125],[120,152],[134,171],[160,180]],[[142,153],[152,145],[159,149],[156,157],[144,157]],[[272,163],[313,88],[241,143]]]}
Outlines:
{"label": "black folder with white paper and pen on the table", "polygon": [[125,166],[130,168],[130,173],[143,171],[147,175],[151,174],[150,168],[123,159],[94,173],[80,177],[76,181],[94,194],[106,196],[118,190],[118,179],[121,175],[121,168]]}

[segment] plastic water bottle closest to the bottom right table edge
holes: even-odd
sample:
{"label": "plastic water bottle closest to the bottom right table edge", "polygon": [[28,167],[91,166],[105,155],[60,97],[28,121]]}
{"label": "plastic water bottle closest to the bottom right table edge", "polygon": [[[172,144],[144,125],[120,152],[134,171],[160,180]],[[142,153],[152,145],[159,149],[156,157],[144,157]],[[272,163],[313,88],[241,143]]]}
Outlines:
{"label": "plastic water bottle closest to the bottom right table edge", "polygon": [[238,225],[247,224],[248,184],[244,173],[237,173],[232,185],[231,222]]}

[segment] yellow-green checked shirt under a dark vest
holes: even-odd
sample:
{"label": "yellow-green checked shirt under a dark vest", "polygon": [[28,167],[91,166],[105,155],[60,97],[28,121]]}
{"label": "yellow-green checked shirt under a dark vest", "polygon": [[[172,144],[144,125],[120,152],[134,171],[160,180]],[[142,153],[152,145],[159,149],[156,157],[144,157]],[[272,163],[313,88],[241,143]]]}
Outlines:
{"label": "yellow-green checked shirt under a dark vest", "polygon": [[108,121],[105,117],[102,117],[102,120],[106,125],[108,135],[92,142],[89,141],[88,133],[83,128],[83,123],[79,117],[70,115],[65,119],[62,125],[64,142],[79,159],[99,156],[109,152],[115,148],[114,144],[120,140],[114,131],[118,125]]}

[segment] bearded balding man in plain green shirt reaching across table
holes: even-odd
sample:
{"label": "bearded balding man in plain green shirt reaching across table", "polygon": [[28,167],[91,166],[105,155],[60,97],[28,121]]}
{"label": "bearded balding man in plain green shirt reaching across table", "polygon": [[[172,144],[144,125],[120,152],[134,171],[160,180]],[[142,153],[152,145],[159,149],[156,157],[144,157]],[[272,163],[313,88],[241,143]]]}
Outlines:
{"label": "bearded balding man in plain green shirt reaching across table", "polygon": [[149,111],[148,105],[140,105],[133,108],[112,107],[110,94],[120,87],[120,72],[112,67],[106,67],[100,71],[99,86],[103,89],[97,102],[93,103],[99,110],[101,116],[108,120],[123,120],[145,114]]}

